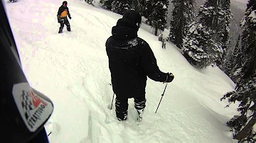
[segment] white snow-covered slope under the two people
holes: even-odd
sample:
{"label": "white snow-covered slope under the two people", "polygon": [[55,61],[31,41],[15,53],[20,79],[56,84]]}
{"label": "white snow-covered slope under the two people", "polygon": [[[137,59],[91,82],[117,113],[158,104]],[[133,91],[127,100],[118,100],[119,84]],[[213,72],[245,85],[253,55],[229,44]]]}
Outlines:
{"label": "white snow-covered slope under the two people", "polygon": [[[56,13],[62,1],[20,0],[6,4],[11,28],[31,86],[53,100],[46,129],[53,143],[82,142],[235,142],[225,122],[236,113],[220,98],[234,84],[218,67],[193,68],[176,47],[161,42],[142,25],[139,37],[154,51],[159,68],[172,72],[165,84],[148,79],[144,120],[137,125],[133,100],[126,122],[115,119],[105,41],[122,16],[83,1],[68,1],[71,33],[58,34]],[[145,28],[146,30],[144,30]]]}

